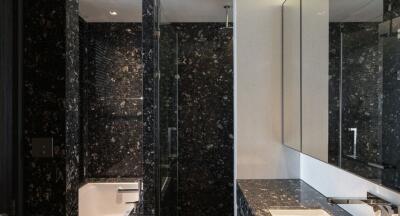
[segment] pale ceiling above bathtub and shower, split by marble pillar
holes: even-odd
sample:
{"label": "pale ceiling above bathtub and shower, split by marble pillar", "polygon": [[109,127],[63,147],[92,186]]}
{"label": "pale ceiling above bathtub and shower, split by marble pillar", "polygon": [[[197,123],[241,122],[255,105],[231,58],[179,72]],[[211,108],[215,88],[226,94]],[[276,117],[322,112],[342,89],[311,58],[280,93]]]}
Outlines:
{"label": "pale ceiling above bathtub and shower, split by marble pillar", "polygon": [[[233,0],[160,1],[162,22],[225,22],[224,6]],[[142,22],[142,0],[80,0],[79,14],[87,22]]]}

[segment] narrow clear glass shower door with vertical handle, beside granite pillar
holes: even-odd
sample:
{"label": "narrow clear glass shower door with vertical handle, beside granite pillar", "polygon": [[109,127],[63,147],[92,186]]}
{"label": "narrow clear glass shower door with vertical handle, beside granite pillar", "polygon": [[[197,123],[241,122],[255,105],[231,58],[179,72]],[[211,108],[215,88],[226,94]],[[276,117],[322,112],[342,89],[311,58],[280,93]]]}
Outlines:
{"label": "narrow clear glass shower door with vertical handle, beside granite pillar", "polygon": [[159,39],[160,215],[178,215],[178,36],[160,26]]}

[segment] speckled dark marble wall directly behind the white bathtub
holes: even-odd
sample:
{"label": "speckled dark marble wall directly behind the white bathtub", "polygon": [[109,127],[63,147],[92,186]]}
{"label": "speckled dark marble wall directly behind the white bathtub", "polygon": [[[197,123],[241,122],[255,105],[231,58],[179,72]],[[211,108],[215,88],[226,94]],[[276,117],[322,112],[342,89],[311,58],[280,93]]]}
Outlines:
{"label": "speckled dark marble wall directly behind the white bathtub", "polygon": [[85,178],[142,176],[141,28],[81,20]]}

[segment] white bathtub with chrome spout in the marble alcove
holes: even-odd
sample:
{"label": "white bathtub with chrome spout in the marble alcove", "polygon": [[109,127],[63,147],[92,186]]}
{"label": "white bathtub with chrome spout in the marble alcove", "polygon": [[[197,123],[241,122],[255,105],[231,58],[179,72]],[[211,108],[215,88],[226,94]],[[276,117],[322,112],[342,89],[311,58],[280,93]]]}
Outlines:
{"label": "white bathtub with chrome spout in the marble alcove", "polygon": [[88,183],[79,189],[79,216],[127,216],[136,206],[127,202],[139,201],[138,189],[137,182]]}

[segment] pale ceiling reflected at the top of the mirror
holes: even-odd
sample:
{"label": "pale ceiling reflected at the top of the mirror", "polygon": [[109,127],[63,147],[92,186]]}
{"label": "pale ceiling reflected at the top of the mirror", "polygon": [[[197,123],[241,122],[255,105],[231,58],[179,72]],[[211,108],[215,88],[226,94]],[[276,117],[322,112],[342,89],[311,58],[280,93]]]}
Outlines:
{"label": "pale ceiling reflected at the top of the mirror", "polygon": [[329,0],[330,22],[382,22],[383,0]]}

